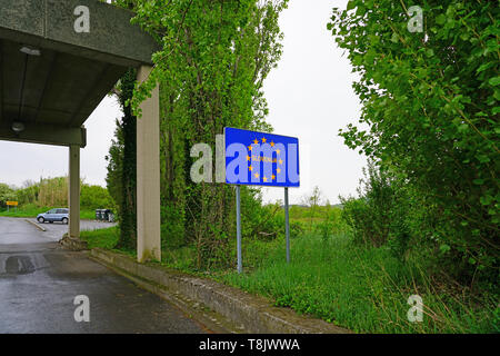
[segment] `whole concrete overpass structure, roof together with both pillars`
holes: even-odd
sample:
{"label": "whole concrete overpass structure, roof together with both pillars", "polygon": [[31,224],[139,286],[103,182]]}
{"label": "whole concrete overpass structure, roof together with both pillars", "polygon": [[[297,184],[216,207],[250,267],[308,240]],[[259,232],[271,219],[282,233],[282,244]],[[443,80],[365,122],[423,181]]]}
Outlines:
{"label": "whole concrete overpass structure, roof together with both pillars", "polygon": [[[154,40],[97,0],[0,0],[0,139],[67,146],[69,235],[80,235],[84,121],[128,68],[151,71]],[[160,259],[159,92],[137,127],[138,259]]]}

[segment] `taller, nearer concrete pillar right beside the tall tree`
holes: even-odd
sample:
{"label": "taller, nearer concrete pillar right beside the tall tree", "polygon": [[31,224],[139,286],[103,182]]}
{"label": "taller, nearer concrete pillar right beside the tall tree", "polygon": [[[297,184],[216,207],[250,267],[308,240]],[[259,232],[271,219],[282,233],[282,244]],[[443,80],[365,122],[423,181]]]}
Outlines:
{"label": "taller, nearer concrete pillar right beside the tall tree", "polygon": [[[137,73],[144,81],[151,67],[141,66]],[[160,93],[141,103],[137,120],[137,259],[161,260],[160,237]]]}

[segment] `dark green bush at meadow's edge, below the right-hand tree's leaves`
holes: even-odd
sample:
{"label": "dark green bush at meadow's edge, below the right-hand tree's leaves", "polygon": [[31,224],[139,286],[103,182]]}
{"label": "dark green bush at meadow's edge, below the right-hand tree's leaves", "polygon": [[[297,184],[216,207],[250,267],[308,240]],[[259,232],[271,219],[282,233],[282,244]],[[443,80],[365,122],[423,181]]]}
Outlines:
{"label": "dark green bush at meadow's edge, below the right-hand tree's leaves", "polygon": [[411,187],[370,161],[358,192],[359,198],[341,198],[342,218],[354,243],[387,246],[400,260],[408,259],[412,248],[429,261],[433,258],[431,207]]}

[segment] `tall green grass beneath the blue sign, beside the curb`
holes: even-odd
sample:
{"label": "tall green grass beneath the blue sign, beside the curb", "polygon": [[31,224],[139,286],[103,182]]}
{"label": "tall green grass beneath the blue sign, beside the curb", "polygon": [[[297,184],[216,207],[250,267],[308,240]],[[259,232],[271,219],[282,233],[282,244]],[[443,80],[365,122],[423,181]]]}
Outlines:
{"label": "tall green grass beneath the blue sign, beside the curb", "polygon": [[[283,244],[268,245],[253,265],[250,256],[257,258],[261,246],[248,247],[250,269],[217,279],[359,333],[499,330],[498,298],[473,299],[440,289],[422,269],[403,265],[389,250],[356,247],[347,236],[324,240],[309,235],[292,240],[287,265]],[[423,299],[422,323],[407,317],[408,298],[414,294]]]}

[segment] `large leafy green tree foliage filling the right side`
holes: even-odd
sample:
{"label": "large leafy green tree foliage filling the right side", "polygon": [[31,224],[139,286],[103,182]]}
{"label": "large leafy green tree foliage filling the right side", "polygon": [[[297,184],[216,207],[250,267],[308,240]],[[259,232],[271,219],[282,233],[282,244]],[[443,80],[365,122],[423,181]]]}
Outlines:
{"label": "large leafy green tree foliage filling the right side", "polygon": [[431,216],[424,219],[437,224],[420,238],[441,247],[449,273],[471,283],[497,280],[500,7],[420,6],[422,33],[407,29],[402,1],[351,0],[348,10],[334,9],[328,28],[359,73],[353,88],[360,122],[369,127],[350,125],[341,136],[426,201]]}

